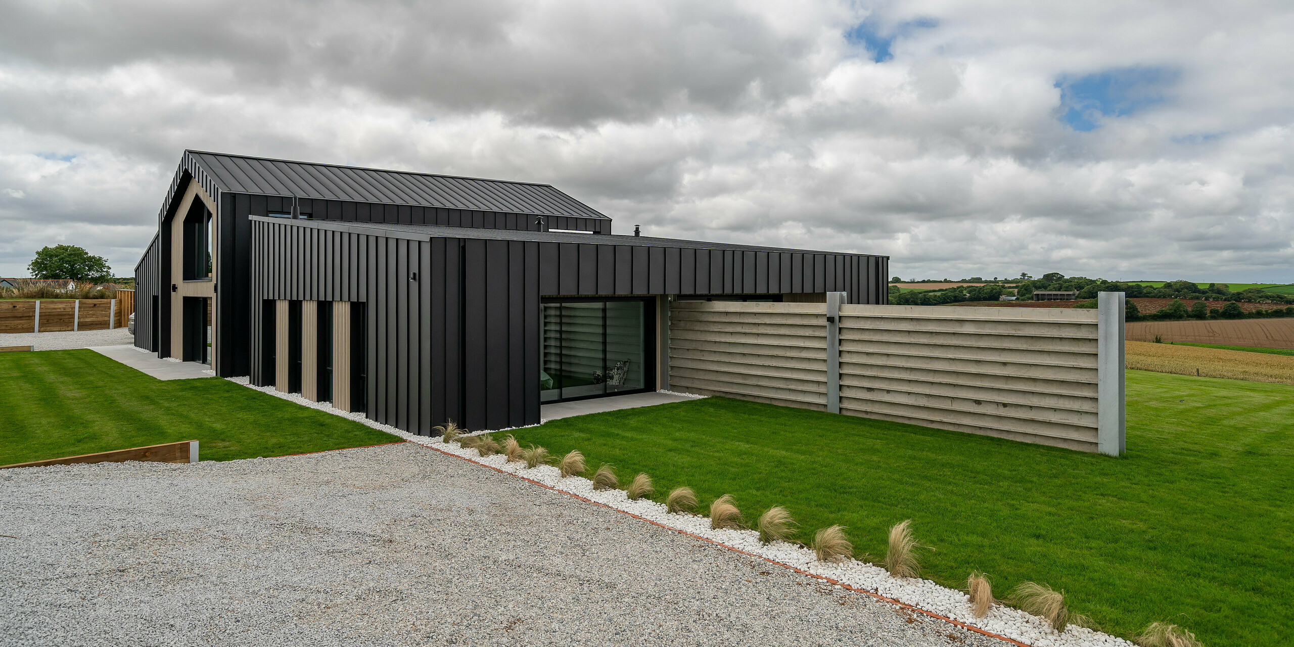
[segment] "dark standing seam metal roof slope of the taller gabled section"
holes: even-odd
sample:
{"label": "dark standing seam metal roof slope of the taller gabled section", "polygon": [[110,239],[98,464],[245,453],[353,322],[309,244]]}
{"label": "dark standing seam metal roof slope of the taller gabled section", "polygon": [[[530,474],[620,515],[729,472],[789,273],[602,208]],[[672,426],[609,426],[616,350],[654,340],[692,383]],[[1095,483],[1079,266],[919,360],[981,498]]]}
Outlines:
{"label": "dark standing seam metal roof slope of the taller gabled section", "polygon": [[[188,150],[221,190],[611,220],[547,184],[481,180]],[[181,164],[182,167],[184,164]]]}

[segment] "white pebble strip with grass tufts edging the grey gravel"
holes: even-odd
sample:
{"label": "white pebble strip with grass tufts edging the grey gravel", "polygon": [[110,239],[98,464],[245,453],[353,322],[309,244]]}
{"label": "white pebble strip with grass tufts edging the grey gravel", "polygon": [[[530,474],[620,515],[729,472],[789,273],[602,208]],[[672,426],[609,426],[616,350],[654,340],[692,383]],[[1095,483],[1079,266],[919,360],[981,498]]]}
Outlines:
{"label": "white pebble strip with grass tufts edging the grey gravel", "polygon": [[[509,463],[507,458],[499,454],[481,457],[475,449],[463,449],[458,443],[441,443],[439,437],[417,436],[400,431],[389,424],[382,424],[364,417],[362,413],[343,411],[334,409],[331,402],[312,402],[299,393],[281,393],[273,387],[256,387],[248,384],[247,378],[226,378],[230,382],[243,384],[263,393],[269,393],[283,400],[296,402],[311,409],[340,415],[367,427],[384,431],[411,443],[424,445],[446,454],[465,458],[474,463],[493,467],[498,471],[529,479],[541,485],[546,485],[558,492],[575,494],[577,497],[602,503],[607,507],[638,515],[648,521],[653,521],[665,528],[688,533],[709,540],[721,546],[740,550],[756,555],[776,564],[793,568],[809,575],[819,576],[839,582],[864,593],[872,593],[889,600],[908,604],[917,609],[933,613],[945,620],[952,620],[970,628],[982,629],[1002,638],[1036,647],[1087,647],[1087,646],[1118,646],[1136,647],[1134,643],[1100,631],[1093,631],[1082,626],[1070,625],[1065,631],[1056,631],[1040,617],[1031,616],[1024,611],[1004,606],[995,606],[985,617],[974,617],[970,613],[970,599],[965,593],[955,589],[946,589],[929,580],[921,578],[895,578],[877,565],[850,559],[848,562],[826,564],[817,560],[814,553],[796,543],[774,542],[760,543],[760,533],[756,531],[710,529],[707,516],[688,514],[670,514],[663,503],[641,499],[629,501],[625,490],[595,490],[593,481],[582,476],[568,476],[563,479],[556,467],[538,466],[528,470],[525,463]],[[703,397],[690,393],[674,393],[690,397]],[[542,424],[542,422],[541,422]],[[536,427],[529,424],[528,427]],[[523,428],[523,427],[514,427]],[[471,435],[494,433],[498,431],[476,431]]]}

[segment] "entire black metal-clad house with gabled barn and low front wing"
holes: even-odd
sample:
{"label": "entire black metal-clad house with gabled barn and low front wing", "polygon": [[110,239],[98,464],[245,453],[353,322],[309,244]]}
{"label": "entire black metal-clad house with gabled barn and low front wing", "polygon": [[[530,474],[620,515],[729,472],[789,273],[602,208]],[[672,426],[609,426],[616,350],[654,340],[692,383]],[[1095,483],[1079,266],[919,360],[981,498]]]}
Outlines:
{"label": "entire black metal-clad house with gabled barn and low front wing", "polygon": [[543,184],[185,151],[135,345],[414,433],[668,384],[677,299],[886,303],[886,256],[613,236]]}

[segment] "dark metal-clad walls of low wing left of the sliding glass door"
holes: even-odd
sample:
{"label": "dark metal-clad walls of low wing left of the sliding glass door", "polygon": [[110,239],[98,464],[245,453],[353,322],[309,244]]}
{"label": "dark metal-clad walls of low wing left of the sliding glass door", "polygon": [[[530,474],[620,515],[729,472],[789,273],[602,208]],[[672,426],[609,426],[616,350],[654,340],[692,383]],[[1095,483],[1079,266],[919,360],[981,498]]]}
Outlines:
{"label": "dark metal-clad walls of low wing left of the sliding glass door", "polygon": [[[538,422],[538,245],[367,236],[252,221],[251,303],[366,308],[369,418],[414,433]],[[309,259],[309,261],[304,261]],[[267,351],[252,317],[254,356]],[[463,324],[467,324],[463,327]],[[273,352],[273,351],[270,351]],[[251,362],[255,384],[273,383]]]}

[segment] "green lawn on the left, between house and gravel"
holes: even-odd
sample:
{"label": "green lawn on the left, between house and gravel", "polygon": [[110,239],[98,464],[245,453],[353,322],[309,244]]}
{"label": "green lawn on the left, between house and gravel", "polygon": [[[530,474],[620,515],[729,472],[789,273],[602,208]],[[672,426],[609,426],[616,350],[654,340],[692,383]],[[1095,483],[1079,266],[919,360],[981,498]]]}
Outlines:
{"label": "green lawn on the left, between house and gravel", "polygon": [[233,382],[162,382],[94,351],[0,353],[0,465],[199,441],[232,461],[400,439]]}

